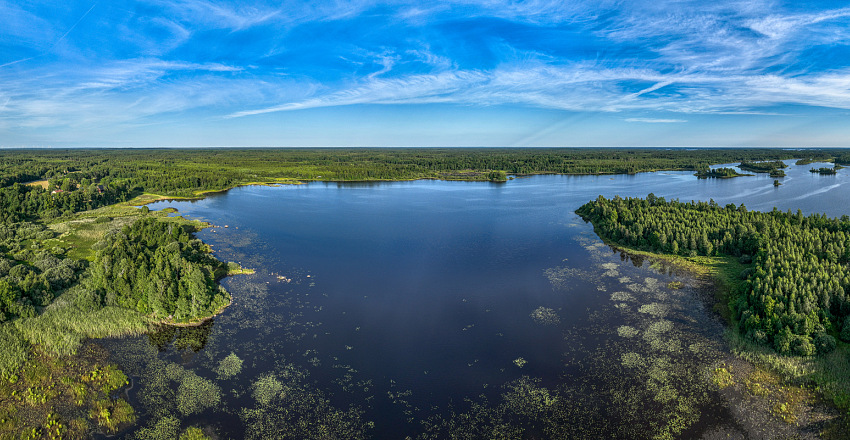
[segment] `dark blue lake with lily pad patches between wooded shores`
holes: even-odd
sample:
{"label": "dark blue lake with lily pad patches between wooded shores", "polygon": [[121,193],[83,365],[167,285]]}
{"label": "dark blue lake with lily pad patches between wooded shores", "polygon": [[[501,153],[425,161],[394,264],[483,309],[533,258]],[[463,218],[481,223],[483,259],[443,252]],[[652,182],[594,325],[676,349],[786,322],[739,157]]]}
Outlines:
{"label": "dark blue lake with lily pad patches between wooded shores", "polygon": [[846,171],[788,163],[779,187],[657,172],[155,203],[210,222],[198,237],[256,273],[223,280],[233,304],[203,326],[97,343],[133,377],[148,438],[169,423],[221,438],[758,438],[773,422],[709,380],[734,361],[710,292],[605,246],[574,211],[654,193],[850,213]]}

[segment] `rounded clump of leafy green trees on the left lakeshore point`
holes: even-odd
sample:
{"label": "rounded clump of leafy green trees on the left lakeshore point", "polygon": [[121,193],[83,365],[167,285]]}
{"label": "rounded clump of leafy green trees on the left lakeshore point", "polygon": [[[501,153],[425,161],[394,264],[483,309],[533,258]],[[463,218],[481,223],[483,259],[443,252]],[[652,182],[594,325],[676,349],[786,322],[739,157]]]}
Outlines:
{"label": "rounded clump of leafy green trees on the left lakeshore point", "polygon": [[88,286],[105,305],[186,322],[229,303],[216,284],[222,267],[180,225],[143,218],[107,235],[89,269]]}

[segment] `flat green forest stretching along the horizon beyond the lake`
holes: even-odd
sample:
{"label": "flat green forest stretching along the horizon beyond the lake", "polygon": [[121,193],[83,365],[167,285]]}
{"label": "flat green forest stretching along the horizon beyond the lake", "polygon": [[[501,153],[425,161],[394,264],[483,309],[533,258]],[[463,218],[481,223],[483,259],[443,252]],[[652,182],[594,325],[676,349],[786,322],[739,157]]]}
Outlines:
{"label": "flat green forest stretching along the horizon beyond the lake", "polygon": [[[62,189],[122,184],[175,196],[278,178],[303,180],[500,180],[501,174],[624,174],[705,170],[791,159],[775,149],[68,149],[0,151],[0,187],[50,180]],[[809,156],[850,157],[846,150]],[[491,174],[496,172],[497,174]],[[493,179],[493,177],[497,177]],[[86,199],[88,200],[88,199]],[[61,212],[61,211],[60,211]]]}

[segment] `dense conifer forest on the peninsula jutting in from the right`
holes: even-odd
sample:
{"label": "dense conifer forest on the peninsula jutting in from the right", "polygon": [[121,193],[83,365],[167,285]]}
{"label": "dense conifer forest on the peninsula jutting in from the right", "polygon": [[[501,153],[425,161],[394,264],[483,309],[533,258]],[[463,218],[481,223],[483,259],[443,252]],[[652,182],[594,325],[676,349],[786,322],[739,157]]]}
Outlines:
{"label": "dense conifer forest on the peninsula jutting in from the right", "polygon": [[667,201],[650,194],[577,211],[608,240],[686,256],[752,262],[732,307],[742,334],[783,354],[829,352],[850,341],[850,218],[748,211],[714,201]]}

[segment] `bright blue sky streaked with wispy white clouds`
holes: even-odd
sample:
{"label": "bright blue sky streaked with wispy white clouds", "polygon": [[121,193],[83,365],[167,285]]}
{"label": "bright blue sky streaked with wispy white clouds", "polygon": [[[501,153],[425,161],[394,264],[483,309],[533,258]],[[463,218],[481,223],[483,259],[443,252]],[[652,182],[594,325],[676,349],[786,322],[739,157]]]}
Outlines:
{"label": "bright blue sky streaked with wispy white clouds", "polygon": [[850,146],[850,2],[0,0],[0,146]]}

